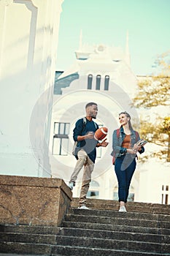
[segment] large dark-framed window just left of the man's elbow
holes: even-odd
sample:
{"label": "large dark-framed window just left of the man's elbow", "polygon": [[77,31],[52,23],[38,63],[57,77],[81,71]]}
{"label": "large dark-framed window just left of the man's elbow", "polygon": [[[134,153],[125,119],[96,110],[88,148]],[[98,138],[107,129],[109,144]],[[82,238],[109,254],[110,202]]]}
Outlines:
{"label": "large dark-framed window just left of the man's elbow", "polygon": [[54,123],[53,154],[67,156],[69,146],[69,123]]}

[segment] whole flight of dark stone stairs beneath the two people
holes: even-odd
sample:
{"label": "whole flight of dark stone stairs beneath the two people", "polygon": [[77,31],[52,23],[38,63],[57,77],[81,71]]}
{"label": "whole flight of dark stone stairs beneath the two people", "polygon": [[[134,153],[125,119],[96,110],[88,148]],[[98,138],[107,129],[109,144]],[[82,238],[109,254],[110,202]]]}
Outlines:
{"label": "whole flight of dark stone stairs beneath the two people", "polygon": [[118,212],[118,203],[113,200],[88,199],[87,206],[91,209],[77,209],[74,198],[61,227],[1,225],[0,252],[49,256],[170,255],[170,206],[127,203],[127,213]]}

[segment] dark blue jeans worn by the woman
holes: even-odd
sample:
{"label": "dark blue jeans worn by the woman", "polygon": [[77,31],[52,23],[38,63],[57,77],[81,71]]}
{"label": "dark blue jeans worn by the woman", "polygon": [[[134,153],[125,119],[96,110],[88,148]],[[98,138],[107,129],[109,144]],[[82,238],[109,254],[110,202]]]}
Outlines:
{"label": "dark blue jeans worn by the woman", "polygon": [[135,158],[131,158],[130,154],[117,157],[115,160],[115,173],[118,181],[118,197],[119,202],[127,202],[128,189],[131,184],[131,178],[136,168]]}

